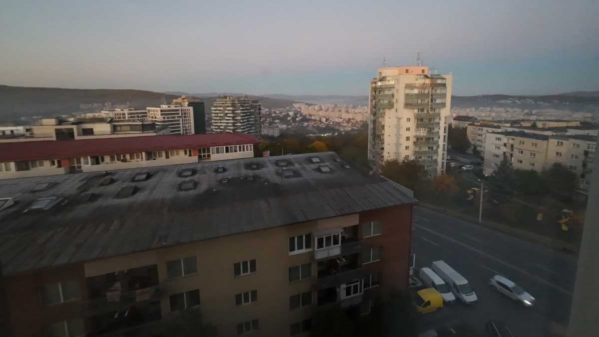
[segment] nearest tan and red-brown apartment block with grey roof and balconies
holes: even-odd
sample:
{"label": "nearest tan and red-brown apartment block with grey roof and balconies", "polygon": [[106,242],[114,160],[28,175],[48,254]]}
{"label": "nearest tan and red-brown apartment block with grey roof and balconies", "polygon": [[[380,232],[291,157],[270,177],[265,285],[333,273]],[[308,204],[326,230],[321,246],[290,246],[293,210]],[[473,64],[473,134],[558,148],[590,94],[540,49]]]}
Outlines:
{"label": "nearest tan and red-brown apartment block with grey roof and balconies", "polygon": [[0,181],[4,320],[166,337],[195,309],[220,336],[308,333],[318,308],[406,290],[404,191],[334,152]]}

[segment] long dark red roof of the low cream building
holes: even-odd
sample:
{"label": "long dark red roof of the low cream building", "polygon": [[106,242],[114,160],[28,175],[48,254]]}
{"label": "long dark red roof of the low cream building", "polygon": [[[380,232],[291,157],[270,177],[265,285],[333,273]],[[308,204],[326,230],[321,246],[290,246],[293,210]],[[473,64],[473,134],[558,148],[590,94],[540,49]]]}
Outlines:
{"label": "long dark red roof of the low cream building", "polygon": [[67,159],[144,151],[256,144],[258,142],[258,139],[251,134],[215,133],[0,143],[0,161]]}

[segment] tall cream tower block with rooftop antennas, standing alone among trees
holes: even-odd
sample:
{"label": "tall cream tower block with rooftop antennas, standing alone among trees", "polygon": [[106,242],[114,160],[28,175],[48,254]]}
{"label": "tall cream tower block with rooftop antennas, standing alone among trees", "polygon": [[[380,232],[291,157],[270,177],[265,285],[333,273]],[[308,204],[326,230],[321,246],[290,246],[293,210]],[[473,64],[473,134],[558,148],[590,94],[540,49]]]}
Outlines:
{"label": "tall cream tower block with rooftop antennas, standing alone among trees", "polygon": [[428,67],[384,67],[370,81],[368,160],[418,160],[430,175],[445,169],[452,75]]}

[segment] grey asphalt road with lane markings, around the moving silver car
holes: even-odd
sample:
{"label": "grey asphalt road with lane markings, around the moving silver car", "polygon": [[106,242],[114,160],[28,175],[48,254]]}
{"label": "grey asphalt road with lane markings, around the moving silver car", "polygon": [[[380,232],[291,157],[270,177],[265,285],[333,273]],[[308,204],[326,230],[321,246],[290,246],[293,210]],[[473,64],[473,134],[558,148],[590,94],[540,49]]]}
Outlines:
{"label": "grey asphalt road with lane markings, around the moving silver car", "polygon": [[[456,302],[422,315],[423,330],[467,323],[483,332],[486,321],[497,320],[516,337],[563,336],[576,257],[422,207],[415,208],[412,249],[416,270],[444,260],[468,279],[479,298],[475,306]],[[521,285],[536,298],[535,305],[525,308],[489,287],[493,275]]]}

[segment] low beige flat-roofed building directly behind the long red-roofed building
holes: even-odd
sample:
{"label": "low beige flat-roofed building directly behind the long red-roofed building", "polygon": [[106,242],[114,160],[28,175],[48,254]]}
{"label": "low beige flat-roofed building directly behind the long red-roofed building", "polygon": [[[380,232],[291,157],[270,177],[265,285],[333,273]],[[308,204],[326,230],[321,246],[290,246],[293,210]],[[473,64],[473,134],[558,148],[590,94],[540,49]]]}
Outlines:
{"label": "low beige flat-roofed building directly behind the long red-roofed building", "polygon": [[[28,129],[29,130],[29,129]],[[140,137],[168,134],[168,128],[147,119],[43,118],[31,126],[31,132],[18,136],[0,136],[0,143],[40,142],[44,140],[81,140]]]}

